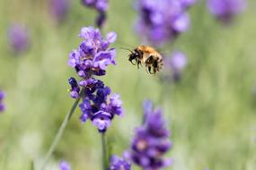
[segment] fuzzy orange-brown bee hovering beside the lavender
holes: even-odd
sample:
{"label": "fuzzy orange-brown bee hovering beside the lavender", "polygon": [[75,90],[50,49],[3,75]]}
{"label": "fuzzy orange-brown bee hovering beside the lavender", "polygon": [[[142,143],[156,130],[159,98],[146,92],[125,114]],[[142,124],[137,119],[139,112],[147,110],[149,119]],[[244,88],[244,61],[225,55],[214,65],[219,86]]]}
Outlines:
{"label": "fuzzy orange-brown bee hovering beside the lavender", "polygon": [[145,65],[146,72],[149,72],[150,74],[155,74],[162,69],[163,57],[154,49],[154,47],[142,45],[138,46],[133,51],[129,51],[131,54],[128,55],[128,61],[131,64],[137,65],[138,69],[142,64]]}

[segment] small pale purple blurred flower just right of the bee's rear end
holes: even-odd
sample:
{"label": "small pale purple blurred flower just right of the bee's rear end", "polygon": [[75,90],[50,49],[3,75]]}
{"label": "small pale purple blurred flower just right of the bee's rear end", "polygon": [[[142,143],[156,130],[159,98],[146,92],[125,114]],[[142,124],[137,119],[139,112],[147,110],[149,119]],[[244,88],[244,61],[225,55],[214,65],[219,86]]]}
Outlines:
{"label": "small pale purple blurred flower just right of the bee's rear end", "polygon": [[172,57],[165,57],[162,74],[163,81],[180,81],[187,63],[187,56],[180,51],[173,52]]}

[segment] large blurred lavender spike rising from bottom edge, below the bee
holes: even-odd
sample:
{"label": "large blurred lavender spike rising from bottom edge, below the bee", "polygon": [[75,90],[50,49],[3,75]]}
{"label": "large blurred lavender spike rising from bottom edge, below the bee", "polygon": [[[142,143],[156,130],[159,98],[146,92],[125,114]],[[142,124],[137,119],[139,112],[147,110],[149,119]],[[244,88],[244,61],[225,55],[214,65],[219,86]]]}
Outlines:
{"label": "large blurred lavender spike rising from bottom edge, below the bee", "polygon": [[163,158],[172,147],[170,132],[166,129],[162,111],[153,109],[152,103],[146,101],[145,122],[136,130],[131,144],[132,161],[146,170],[160,169],[172,164],[172,159]]}

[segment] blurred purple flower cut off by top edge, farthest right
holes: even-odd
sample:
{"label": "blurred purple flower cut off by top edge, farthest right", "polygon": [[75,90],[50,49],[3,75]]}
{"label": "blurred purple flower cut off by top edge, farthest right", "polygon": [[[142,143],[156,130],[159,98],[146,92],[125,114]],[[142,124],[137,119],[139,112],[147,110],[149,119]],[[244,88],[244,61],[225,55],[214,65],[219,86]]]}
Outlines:
{"label": "blurred purple flower cut off by top edge, farthest right", "polygon": [[207,6],[219,21],[229,23],[245,9],[245,0],[207,0]]}

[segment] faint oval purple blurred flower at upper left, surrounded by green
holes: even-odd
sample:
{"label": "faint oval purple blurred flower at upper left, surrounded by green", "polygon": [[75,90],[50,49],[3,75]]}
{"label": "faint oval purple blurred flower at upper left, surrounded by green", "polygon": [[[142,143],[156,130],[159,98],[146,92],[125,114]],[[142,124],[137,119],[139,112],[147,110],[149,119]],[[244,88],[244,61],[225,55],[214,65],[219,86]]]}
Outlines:
{"label": "faint oval purple blurred flower at upper left, surrounded by green", "polygon": [[13,24],[8,29],[8,39],[12,51],[15,54],[22,54],[30,46],[29,31],[20,24]]}

